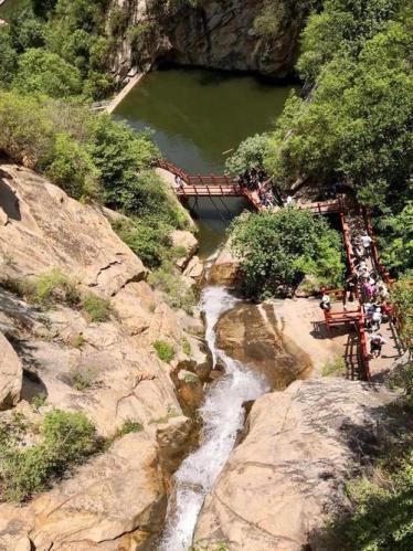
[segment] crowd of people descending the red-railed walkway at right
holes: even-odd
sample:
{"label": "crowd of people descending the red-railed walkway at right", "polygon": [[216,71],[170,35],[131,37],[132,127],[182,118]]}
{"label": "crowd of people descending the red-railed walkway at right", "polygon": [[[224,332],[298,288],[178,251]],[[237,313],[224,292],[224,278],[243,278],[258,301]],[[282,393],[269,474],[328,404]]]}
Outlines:
{"label": "crowd of people descending the red-railed walkway at right", "polygon": [[[388,286],[374,268],[370,267],[371,243],[372,240],[367,233],[351,241],[356,271],[345,282],[343,309],[347,310],[347,303],[353,301],[359,292],[366,326],[370,332],[370,354],[372,358],[379,358],[386,342],[380,329],[382,324],[390,320],[391,307],[388,304]],[[320,308],[327,311],[331,309],[331,299],[327,293],[322,294]]]}

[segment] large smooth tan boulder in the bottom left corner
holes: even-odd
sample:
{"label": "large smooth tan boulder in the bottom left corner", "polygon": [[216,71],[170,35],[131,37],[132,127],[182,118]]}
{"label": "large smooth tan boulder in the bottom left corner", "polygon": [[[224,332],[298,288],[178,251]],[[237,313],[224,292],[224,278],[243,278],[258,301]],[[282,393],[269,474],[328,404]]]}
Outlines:
{"label": "large smooth tan boulder in the bottom left corner", "polygon": [[0,547],[10,541],[23,550],[30,538],[35,549],[140,549],[159,534],[166,506],[156,445],[145,434],[128,434],[28,507],[0,506],[7,519]]}

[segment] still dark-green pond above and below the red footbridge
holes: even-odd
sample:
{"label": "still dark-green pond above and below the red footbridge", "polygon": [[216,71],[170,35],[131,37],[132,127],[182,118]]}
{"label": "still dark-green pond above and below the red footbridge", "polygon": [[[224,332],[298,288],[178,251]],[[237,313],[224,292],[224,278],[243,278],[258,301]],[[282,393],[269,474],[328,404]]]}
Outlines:
{"label": "still dark-green pond above and below the red footbridge", "polygon": [[[202,68],[163,68],[146,75],[115,112],[136,130],[152,133],[163,157],[189,173],[222,174],[239,144],[269,130],[294,86],[251,75]],[[247,208],[240,199],[191,200],[200,256],[213,254],[232,218]]]}

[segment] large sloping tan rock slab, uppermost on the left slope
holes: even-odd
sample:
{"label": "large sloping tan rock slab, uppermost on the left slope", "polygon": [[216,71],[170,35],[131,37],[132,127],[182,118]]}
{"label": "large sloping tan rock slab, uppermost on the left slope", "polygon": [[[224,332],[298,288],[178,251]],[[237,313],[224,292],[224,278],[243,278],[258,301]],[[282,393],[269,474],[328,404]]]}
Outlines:
{"label": "large sloping tan rock slab, uppermost on the left slope", "polygon": [[107,296],[146,277],[98,206],[80,204],[35,172],[2,165],[0,204],[9,219],[0,231],[0,254],[12,257],[10,272],[29,276],[60,267]]}

